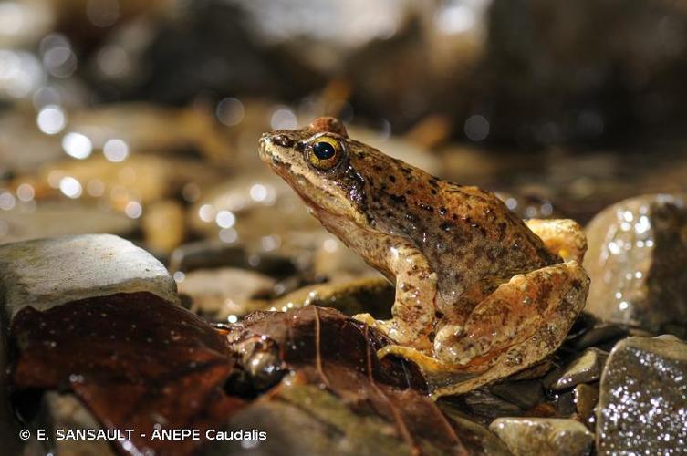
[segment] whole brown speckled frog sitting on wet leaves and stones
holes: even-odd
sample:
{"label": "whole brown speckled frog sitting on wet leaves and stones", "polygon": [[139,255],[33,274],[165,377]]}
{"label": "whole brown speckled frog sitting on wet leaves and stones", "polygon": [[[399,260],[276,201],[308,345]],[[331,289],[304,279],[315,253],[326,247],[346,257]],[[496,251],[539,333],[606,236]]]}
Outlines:
{"label": "whole brown speckled frog sitting on wet leaves and stones", "polygon": [[529,228],[492,192],[352,140],[333,118],[263,135],[260,156],[328,231],[395,284],[390,320],[356,316],[395,341],[380,356],[411,359],[425,373],[470,374],[435,395],[545,358],[585,304],[577,223]]}

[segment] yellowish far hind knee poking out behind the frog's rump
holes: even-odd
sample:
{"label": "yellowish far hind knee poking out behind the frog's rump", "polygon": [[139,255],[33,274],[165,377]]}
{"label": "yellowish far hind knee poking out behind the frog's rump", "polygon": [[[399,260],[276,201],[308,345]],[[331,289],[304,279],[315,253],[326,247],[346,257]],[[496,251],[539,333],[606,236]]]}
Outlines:
{"label": "yellowish far hind knee poking out behind the frog's rump", "polygon": [[587,237],[577,222],[570,219],[530,219],[525,224],[544,241],[546,250],[557,254],[563,261],[582,263],[587,252]]}

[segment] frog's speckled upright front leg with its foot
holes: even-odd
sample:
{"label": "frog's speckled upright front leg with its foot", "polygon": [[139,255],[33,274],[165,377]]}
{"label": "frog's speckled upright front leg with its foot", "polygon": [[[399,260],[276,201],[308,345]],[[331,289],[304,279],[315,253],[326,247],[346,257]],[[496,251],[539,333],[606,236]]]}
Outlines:
{"label": "frog's speckled upright front leg with its foot", "polygon": [[401,346],[431,350],[428,336],[434,323],[437,275],[424,255],[410,243],[390,247],[387,267],[396,277],[393,317],[375,320],[370,314],[359,314],[354,318],[380,329]]}

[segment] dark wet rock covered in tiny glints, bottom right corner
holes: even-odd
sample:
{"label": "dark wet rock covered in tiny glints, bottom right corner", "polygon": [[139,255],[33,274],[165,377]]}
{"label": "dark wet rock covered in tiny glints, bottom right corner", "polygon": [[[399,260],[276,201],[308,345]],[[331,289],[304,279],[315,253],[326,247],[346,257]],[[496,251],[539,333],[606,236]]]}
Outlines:
{"label": "dark wet rock covered in tiny glints, bottom right corner", "polygon": [[597,411],[599,455],[687,448],[687,343],[628,337],[610,352]]}

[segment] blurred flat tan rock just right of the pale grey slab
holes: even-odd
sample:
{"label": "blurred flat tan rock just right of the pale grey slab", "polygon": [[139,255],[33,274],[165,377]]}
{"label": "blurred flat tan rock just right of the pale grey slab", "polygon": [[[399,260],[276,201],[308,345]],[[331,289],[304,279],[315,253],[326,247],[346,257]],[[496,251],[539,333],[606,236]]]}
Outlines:
{"label": "blurred flat tan rock just right of the pale grey slab", "polygon": [[179,293],[193,299],[191,311],[213,321],[235,323],[239,317],[264,309],[276,279],[237,268],[198,269],[176,275]]}

